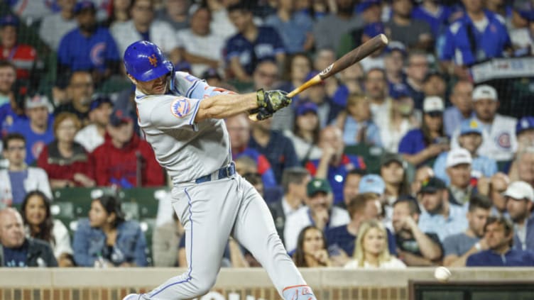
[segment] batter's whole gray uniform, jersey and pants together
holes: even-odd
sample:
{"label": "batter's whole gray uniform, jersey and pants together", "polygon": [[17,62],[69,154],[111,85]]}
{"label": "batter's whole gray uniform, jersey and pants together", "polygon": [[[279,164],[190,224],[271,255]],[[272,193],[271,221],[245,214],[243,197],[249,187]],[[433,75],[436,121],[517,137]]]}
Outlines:
{"label": "batter's whole gray uniform, jersey and pants together", "polygon": [[[224,89],[176,72],[170,93],[136,91],[138,123],[156,159],[173,177],[173,208],[185,228],[188,270],[153,291],[126,299],[179,300],[207,293],[219,272],[229,235],[244,245],[268,272],[284,299],[315,299],[283,248],[265,201],[239,174],[195,183],[231,163],[224,121],[195,123],[202,99]],[[218,172],[217,172],[218,174]],[[304,299],[304,298],[303,298]]]}

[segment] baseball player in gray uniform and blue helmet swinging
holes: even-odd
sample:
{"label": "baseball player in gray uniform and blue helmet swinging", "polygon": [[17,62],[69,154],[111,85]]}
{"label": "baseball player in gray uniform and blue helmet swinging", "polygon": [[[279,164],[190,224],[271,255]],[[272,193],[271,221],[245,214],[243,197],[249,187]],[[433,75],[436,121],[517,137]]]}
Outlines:
{"label": "baseball player in gray uniform and blue helmet swinging", "polygon": [[175,72],[158,46],[129,45],[124,65],[136,85],[138,123],[173,179],[173,208],[185,228],[188,270],[124,300],[192,299],[214,285],[229,235],[268,272],[285,300],[315,300],[288,256],[265,201],[236,173],[224,118],[269,118],[291,103],[283,91],[235,94]]}

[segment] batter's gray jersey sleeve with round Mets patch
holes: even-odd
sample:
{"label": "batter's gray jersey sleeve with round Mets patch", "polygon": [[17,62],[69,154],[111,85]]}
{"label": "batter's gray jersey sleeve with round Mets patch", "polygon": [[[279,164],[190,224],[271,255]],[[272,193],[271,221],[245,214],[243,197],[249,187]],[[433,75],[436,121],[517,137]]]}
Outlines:
{"label": "batter's gray jersey sleeve with round Mets patch", "polygon": [[[151,100],[148,100],[151,101]],[[141,127],[148,117],[151,127],[159,129],[172,129],[190,127],[194,130],[195,116],[200,106],[200,99],[191,99],[184,96],[158,96],[148,113],[140,113],[139,122]],[[143,110],[141,105],[140,110]]]}

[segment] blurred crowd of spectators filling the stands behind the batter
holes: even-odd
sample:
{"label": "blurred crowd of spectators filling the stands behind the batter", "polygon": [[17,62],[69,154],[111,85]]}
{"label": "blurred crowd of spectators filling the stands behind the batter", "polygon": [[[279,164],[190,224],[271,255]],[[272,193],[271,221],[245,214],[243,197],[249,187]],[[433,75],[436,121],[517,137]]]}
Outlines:
{"label": "blurred crowd of spectators filling the stands behind the batter", "polygon": [[[175,214],[147,252],[114,195],[94,196],[72,231],[51,210],[55,189],[169,184],[136,122],[130,43],[156,43],[191,80],[290,91],[380,33],[387,48],[273,118],[226,120],[236,169],[296,265],[534,266],[534,91],[470,72],[533,55],[533,1],[0,5],[1,267],[187,266]],[[222,260],[258,266],[232,238]]]}

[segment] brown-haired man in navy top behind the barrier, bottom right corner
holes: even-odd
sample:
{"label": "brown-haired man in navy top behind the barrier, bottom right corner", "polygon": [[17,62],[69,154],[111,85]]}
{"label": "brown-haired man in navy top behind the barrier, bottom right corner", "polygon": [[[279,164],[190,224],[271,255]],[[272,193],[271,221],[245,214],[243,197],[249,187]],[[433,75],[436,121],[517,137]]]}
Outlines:
{"label": "brown-haired man in navy top behind the barrier, bottom right corner", "polygon": [[506,218],[489,217],[484,226],[488,250],[467,257],[467,267],[532,267],[534,253],[511,248],[513,226]]}

